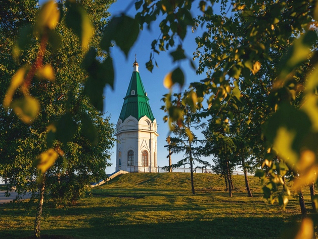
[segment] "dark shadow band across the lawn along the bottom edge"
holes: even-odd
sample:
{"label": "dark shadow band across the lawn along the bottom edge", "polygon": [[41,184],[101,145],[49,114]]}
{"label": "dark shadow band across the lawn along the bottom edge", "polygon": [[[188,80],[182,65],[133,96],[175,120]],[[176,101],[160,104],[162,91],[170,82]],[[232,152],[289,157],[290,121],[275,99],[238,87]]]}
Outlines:
{"label": "dark shadow band across the lawn along the bottom edge", "polygon": [[[107,220],[90,219],[88,228],[42,230],[43,235],[63,235],[43,238],[280,238],[287,223],[281,218],[213,218],[210,221],[182,221],[170,223],[141,223],[109,225]],[[3,231],[2,238],[29,239],[30,231]]]}

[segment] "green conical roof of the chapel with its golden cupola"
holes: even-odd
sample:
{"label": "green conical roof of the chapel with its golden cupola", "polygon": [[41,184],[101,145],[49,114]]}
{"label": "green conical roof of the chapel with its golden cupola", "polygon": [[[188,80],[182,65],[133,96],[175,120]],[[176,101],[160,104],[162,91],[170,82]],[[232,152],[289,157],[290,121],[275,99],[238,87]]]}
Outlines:
{"label": "green conical roof of the chapel with its golden cupola", "polygon": [[[135,62],[134,65],[135,64],[138,66],[137,62]],[[130,115],[137,118],[138,121],[145,115],[150,118],[151,121],[154,121],[155,119],[150,108],[149,98],[147,97],[147,93],[138,70],[132,72],[119,118],[122,120],[122,122],[124,122],[124,120]]]}

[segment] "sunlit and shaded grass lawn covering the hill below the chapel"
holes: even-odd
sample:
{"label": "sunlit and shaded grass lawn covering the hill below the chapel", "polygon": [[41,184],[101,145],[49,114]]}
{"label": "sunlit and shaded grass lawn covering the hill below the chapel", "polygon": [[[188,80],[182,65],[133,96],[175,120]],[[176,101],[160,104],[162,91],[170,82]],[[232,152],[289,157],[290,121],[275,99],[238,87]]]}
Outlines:
{"label": "sunlit and shaded grass lawn covering the hill below the chapel", "polygon": [[[214,174],[125,174],[96,187],[75,206],[56,209],[46,203],[42,234],[47,238],[280,238],[299,221],[294,198],[286,210],[268,205],[258,178],[249,177],[253,198],[247,197],[244,177],[234,175],[233,197]],[[309,190],[304,190],[310,209]],[[1,238],[30,238],[35,207],[0,205]],[[67,237],[65,237],[67,236]]]}

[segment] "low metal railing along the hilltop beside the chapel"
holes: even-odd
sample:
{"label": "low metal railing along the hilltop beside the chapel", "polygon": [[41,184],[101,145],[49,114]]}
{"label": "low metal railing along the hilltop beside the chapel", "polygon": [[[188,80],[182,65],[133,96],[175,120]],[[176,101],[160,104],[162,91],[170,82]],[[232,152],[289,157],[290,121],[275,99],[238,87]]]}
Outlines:
{"label": "low metal railing along the hilltop beside the chapel", "polygon": [[[144,167],[144,166],[129,166],[128,167],[129,173],[168,173],[168,167]],[[172,168],[173,173],[190,173],[190,168]],[[212,169],[195,169],[194,173],[210,173],[215,174]],[[244,175],[244,172],[240,171],[233,171],[232,175]],[[247,173],[249,176],[254,176],[254,174]]]}

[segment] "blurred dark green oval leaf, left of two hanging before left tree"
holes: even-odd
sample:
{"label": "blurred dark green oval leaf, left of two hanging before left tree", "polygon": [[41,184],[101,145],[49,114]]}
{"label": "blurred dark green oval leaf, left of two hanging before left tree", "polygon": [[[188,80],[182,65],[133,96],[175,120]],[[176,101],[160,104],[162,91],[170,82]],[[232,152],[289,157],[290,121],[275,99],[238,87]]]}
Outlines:
{"label": "blurred dark green oval leaf, left of two hanging before left tree", "polygon": [[62,115],[56,125],[57,140],[66,145],[67,142],[74,138],[76,131],[77,124],[73,120],[72,115],[70,113]]}

